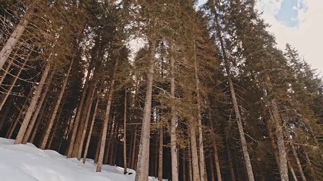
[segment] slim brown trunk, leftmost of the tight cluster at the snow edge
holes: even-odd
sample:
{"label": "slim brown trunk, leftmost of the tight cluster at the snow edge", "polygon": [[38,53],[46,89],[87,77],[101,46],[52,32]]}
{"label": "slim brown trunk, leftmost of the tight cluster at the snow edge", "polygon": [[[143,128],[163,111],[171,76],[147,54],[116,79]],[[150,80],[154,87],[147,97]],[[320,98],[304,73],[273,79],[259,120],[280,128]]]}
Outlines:
{"label": "slim brown trunk, leftmost of the tight cluster at the snow edge", "polygon": [[79,107],[78,107],[75,119],[73,121],[73,132],[72,132],[72,136],[71,136],[71,140],[70,140],[70,145],[69,145],[69,148],[68,148],[68,151],[67,151],[67,158],[72,157],[72,152],[74,150],[74,142],[75,142],[75,138],[76,138],[76,134],[77,134],[78,125],[79,125],[79,122],[80,122],[80,116],[81,116],[82,109],[83,109],[83,103],[84,103],[85,96],[86,96],[86,90],[87,90],[87,85],[88,85],[88,82],[89,82],[91,70],[92,70],[92,67],[89,66],[88,73],[86,75],[85,82],[84,82],[82,97],[81,97],[81,100],[80,100],[80,103],[79,103]]}

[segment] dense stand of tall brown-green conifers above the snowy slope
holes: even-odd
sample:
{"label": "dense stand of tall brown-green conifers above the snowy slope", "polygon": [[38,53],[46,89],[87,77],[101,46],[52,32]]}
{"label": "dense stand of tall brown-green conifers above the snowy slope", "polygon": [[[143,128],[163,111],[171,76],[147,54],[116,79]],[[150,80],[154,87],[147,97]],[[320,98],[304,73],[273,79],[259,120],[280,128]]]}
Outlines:
{"label": "dense stand of tall brown-green conifers above the snowy slope", "polygon": [[0,0],[0,136],[135,181],[323,180],[321,77],[255,3]]}

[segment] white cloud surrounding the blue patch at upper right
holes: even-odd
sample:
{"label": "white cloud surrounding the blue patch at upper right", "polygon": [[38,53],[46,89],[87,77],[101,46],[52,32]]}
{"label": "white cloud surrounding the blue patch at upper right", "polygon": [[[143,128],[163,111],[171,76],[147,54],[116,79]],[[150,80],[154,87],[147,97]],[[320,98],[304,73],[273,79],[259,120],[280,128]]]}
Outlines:
{"label": "white cloud surrounding the blue patch at upper right", "polygon": [[284,49],[286,43],[290,43],[296,47],[301,54],[304,55],[307,62],[313,68],[323,73],[323,1],[311,0],[303,1],[306,6],[306,11],[300,10],[298,7],[299,26],[290,28],[275,19],[280,4],[280,1],[260,0],[257,8],[264,11],[262,18],[272,25],[268,31],[275,34],[278,47]]}

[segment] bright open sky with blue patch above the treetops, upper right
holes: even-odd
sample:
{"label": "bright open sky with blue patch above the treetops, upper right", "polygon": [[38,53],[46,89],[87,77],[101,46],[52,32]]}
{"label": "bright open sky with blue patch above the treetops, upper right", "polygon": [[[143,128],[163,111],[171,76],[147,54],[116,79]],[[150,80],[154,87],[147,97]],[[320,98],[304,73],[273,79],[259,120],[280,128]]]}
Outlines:
{"label": "bright open sky with blue patch above the treetops, upper right", "polygon": [[271,25],[278,48],[291,44],[323,76],[323,0],[258,0],[256,8]]}

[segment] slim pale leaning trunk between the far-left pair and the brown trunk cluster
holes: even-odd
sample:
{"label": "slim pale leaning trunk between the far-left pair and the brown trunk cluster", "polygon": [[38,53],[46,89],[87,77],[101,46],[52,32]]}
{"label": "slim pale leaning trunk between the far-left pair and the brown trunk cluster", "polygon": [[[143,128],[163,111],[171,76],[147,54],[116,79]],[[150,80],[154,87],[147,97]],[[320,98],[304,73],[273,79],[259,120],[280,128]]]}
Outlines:
{"label": "slim pale leaning trunk between the far-left pair and the brown trunk cluster", "polygon": [[61,100],[63,98],[63,95],[64,95],[64,92],[65,92],[65,88],[66,88],[66,85],[68,83],[68,79],[69,79],[69,76],[71,74],[71,70],[72,70],[72,66],[73,66],[73,62],[74,62],[74,56],[72,57],[72,60],[70,62],[70,67],[69,67],[69,70],[67,71],[67,74],[66,74],[66,77],[64,79],[64,82],[63,82],[63,86],[62,86],[62,89],[61,89],[61,92],[60,92],[60,96],[58,98],[58,100],[56,101],[56,105],[55,105],[55,108],[53,110],[53,113],[51,115],[51,118],[49,120],[49,124],[48,124],[48,128],[46,129],[46,132],[45,132],[45,135],[44,135],[44,138],[42,140],[42,143],[40,145],[40,149],[45,149],[45,146],[46,146],[46,143],[47,143],[47,140],[48,140],[48,136],[49,136],[49,133],[50,133],[50,130],[51,130],[51,127],[54,123],[54,120],[55,120],[55,117],[56,117],[56,114],[57,114],[57,111],[60,107],[60,104],[61,104]]}

